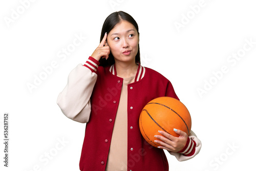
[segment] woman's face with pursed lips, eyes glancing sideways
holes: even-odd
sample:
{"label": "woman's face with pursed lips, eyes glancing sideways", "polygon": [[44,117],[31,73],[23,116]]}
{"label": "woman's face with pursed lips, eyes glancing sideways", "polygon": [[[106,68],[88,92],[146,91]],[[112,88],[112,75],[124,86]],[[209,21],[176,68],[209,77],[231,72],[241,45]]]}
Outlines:
{"label": "woman's face with pursed lips, eyes glancing sideways", "polygon": [[133,24],[121,20],[107,37],[107,43],[115,62],[135,62],[138,53],[139,35]]}

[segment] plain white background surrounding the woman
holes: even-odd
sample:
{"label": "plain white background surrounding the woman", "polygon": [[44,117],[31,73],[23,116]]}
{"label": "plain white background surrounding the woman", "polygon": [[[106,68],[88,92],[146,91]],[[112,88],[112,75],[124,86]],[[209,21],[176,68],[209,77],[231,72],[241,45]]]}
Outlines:
{"label": "plain white background surrounding the woman", "polygon": [[[191,160],[179,162],[166,154],[169,170],[254,168],[254,1],[12,0],[0,3],[1,142],[5,112],[10,135],[8,168],[0,145],[1,170],[79,170],[86,124],[65,117],[56,99],[70,71],[98,46],[105,18],[119,10],[139,25],[142,65],[173,83],[202,141]],[[59,58],[75,35],[86,38],[66,59]],[[237,53],[239,60],[229,57]],[[30,91],[27,84],[54,61],[55,68]]]}

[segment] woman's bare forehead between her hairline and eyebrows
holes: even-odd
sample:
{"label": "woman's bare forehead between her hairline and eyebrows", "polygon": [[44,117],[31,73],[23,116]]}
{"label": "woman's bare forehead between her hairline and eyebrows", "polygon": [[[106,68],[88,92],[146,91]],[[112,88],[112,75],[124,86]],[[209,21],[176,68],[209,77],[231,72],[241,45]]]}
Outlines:
{"label": "woman's bare forehead between her hairline and eyebrows", "polygon": [[118,23],[109,33],[109,35],[112,34],[123,34],[126,33],[127,31],[136,31],[136,28],[134,27],[133,24],[126,22],[124,20],[121,20],[120,23]]}

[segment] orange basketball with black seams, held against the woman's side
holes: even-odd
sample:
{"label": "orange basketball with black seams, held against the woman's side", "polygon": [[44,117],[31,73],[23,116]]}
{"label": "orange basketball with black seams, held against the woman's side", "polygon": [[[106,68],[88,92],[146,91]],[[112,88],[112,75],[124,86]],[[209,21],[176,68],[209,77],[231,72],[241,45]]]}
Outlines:
{"label": "orange basketball with black seams, held against the woman's side", "polygon": [[140,114],[140,132],[144,139],[157,147],[160,144],[155,135],[162,135],[158,131],[164,131],[179,137],[174,129],[184,131],[187,135],[191,130],[191,117],[186,106],[172,97],[158,97],[148,102]]}

